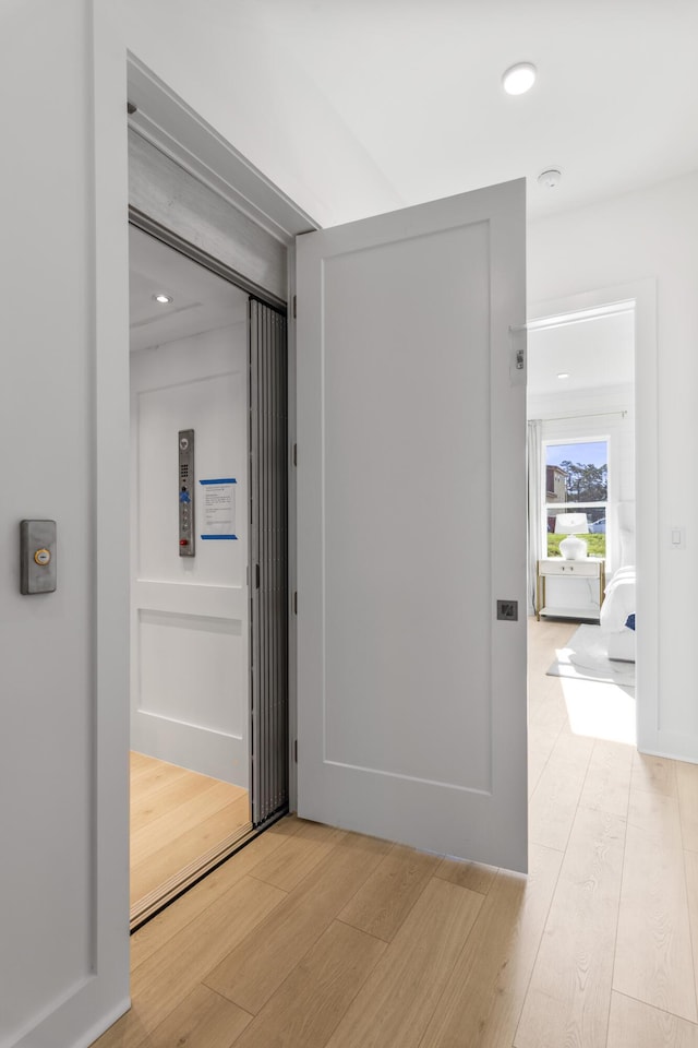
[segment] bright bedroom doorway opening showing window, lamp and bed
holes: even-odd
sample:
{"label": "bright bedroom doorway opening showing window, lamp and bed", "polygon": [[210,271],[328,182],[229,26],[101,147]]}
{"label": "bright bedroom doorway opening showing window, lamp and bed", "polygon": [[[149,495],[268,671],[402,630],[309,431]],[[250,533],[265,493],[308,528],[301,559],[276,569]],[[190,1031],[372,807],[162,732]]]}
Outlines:
{"label": "bright bedroom doorway opening showing window, lamp and bed", "polygon": [[528,331],[535,839],[546,772],[574,777],[570,753],[586,767],[597,745],[637,745],[636,303],[550,315]]}

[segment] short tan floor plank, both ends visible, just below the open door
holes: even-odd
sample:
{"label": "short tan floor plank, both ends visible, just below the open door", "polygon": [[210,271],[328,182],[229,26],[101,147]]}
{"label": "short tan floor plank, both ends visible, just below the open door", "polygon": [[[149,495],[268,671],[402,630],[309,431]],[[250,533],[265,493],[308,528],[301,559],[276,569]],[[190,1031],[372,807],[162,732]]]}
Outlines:
{"label": "short tan floor plank, both ends visible, just below the open door", "polygon": [[440,866],[438,856],[394,845],[339,919],[390,942]]}

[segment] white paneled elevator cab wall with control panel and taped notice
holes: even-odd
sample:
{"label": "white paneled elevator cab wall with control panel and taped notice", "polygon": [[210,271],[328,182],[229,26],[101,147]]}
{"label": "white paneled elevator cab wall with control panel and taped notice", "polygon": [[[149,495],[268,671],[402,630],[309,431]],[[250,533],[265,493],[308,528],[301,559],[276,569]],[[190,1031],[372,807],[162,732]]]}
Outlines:
{"label": "white paneled elevator cab wall with control panel and taped notice", "polygon": [[[244,787],[246,371],[243,310],[225,327],[131,354],[131,745]],[[194,557],[179,556],[178,434],[184,429],[194,430]],[[233,523],[221,531],[217,519],[228,520],[229,496]]]}

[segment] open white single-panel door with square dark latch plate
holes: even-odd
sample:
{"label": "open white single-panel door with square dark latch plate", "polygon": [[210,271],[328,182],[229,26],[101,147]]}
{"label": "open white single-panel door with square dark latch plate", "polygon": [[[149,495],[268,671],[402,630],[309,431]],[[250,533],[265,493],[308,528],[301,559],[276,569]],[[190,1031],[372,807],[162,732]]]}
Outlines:
{"label": "open white single-panel door with square dark latch plate", "polygon": [[525,182],[297,246],[299,814],[525,871]]}

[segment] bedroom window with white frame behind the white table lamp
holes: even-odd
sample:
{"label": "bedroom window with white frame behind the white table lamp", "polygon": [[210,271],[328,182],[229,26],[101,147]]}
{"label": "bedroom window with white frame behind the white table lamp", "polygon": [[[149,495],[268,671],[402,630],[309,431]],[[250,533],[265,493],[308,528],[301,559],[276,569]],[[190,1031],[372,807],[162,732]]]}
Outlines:
{"label": "bedroom window with white frame behind the white table lamp", "polygon": [[559,557],[566,535],[587,543],[590,557],[606,555],[609,440],[546,441],[543,523],[547,557]]}

